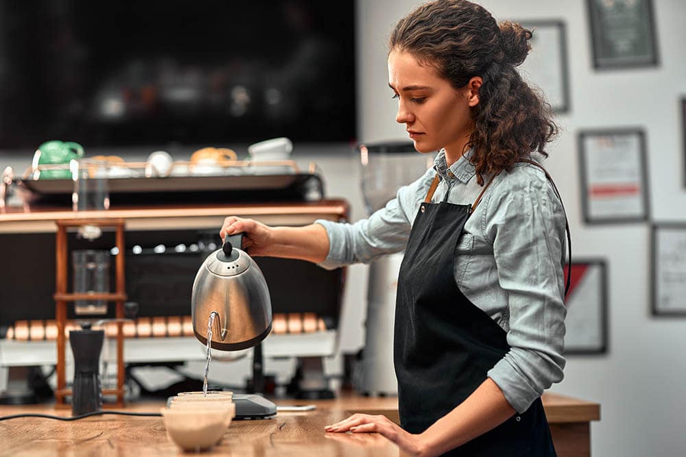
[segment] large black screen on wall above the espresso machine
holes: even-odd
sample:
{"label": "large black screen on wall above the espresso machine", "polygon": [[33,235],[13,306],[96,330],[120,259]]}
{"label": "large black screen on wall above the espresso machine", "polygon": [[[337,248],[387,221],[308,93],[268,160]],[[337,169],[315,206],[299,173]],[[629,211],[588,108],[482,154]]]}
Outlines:
{"label": "large black screen on wall above the espresso machine", "polygon": [[355,140],[353,0],[0,0],[0,149]]}

